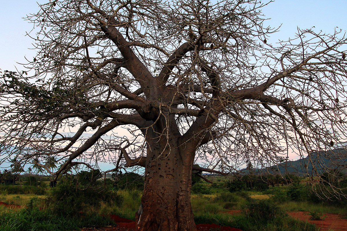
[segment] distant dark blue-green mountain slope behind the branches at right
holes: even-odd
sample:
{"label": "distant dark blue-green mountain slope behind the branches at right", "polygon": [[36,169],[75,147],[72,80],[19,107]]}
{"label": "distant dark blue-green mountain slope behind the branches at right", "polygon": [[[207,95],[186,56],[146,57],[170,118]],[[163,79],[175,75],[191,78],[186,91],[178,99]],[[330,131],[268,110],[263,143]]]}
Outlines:
{"label": "distant dark blue-green mountain slope behind the branches at right", "polygon": [[[311,160],[310,160],[311,156]],[[315,169],[315,170],[313,170]],[[337,148],[329,151],[312,152],[305,158],[285,161],[266,169],[252,169],[256,175],[265,174],[295,174],[299,176],[322,174],[329,169],[339,169],[347,174],[347,148]],[[242,169],[243,174],[250,173],[249,169]]]}

